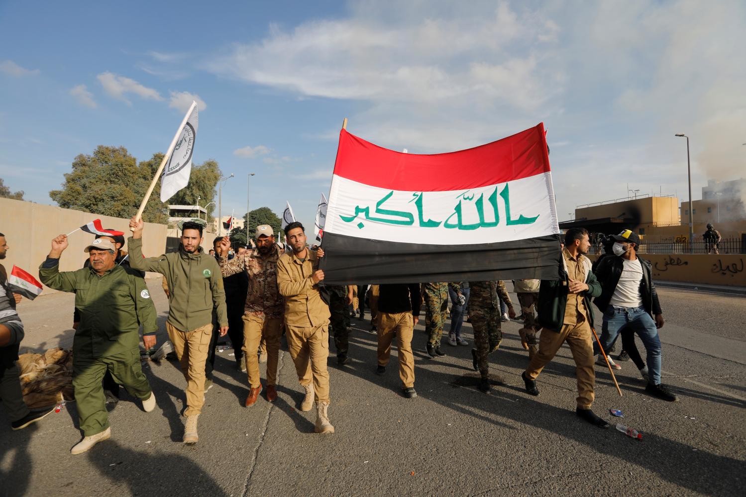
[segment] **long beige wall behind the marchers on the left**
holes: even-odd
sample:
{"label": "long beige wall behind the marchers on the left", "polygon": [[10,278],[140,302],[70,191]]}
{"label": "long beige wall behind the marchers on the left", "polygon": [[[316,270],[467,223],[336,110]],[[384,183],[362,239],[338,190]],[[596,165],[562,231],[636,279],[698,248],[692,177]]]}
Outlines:
{"label": "long beige wall behind the marchers on the left", "polygon": [[[67,234],[75,228],[80,228],[93,219],[101,219],[104,228],[124,231],[125,238],[131,234],[128,219],[99,216],[81,210],[62,209],[27,201],[0,199],[0,233],[5,235],[10,247],[7,257],[1,263],[8,272],[15,264],[39,278],[38,268],[49,253],[51,239],[58,234]],[[166,225],[145,223],[142,238],[142,253],[146,257],[163,254],[166,250]],[[60,258],[60,269],[81,269],[87,258],[83,249],[93,241],[93,235],[78,230],[70,235],[68,241],[69,247]],[[44,293],[53,291],[44,287]]]}

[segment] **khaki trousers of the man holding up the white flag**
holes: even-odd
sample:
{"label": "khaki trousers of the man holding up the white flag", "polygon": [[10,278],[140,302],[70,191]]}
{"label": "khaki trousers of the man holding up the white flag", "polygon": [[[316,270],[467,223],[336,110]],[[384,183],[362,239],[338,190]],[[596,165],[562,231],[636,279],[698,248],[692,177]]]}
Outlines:
{"label": "khaki trousers of the man holding up the white flag", "polygon": [[181,372],[186,379],[186,416],[194,416],[202,411],[204,404],[204,363],[210,352],[210,338],[213,324],[209,323],[192,331],[181,331],[166,322],[169,340],[174,346],[176,357],[181,363]]}

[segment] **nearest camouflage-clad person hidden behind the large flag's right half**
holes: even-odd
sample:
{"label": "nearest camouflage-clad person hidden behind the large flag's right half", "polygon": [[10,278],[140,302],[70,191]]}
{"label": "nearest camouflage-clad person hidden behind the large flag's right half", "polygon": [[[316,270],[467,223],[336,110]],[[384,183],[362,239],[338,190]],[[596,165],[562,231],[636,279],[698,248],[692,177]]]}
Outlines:
{"label": "nearest camouflage-clad person hidden behind the large flag's right half", "polygon": [[474,328],[474,348],[471,349],[474,371],[481,375],[479,390],[489,393],[489,362],[487,355],[496,351],[503,341],[500,322],[500,300],[508,306],[508,315],[515,318],[513,302],[502,281],[470,281],[468,316]]}

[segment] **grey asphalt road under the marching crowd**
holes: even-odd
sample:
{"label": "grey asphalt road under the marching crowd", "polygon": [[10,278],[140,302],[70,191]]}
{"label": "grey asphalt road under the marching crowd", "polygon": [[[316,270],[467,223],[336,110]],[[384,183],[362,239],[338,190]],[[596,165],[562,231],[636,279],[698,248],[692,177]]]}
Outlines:
{"label": "grey asphalt road under the marching crowd", "polygon": [[[165,340],[167,304],[150,281]],[[200,441],[182,446],[184,378],[174,363],[148,363],[157,408],[144,413],[124,394],[110,415],[112,439],[78,456],[75,404],[22,431],[0,414],[0,496],[742,496],[746,480],[746,298],[660,289],[663,381],[681,401],[646,396],[630,362],[621,363],[619,397],[596,368],[594,410],[642,432],[632,440],[574,415],[574,363],[568,348],[539,376],[539,398],[523,391],[527,353],[518,323],[504,323],[492,354],[495,388],[476,390],[470,347],[425,358],[419,326],[416,399],[403,398],[392,353],[374,375],[375,336],[353,319],[351,363],[339,368],[331,346],[330,419],[336,433],[313,433],[302,413],[292,360],[281,352],[278,401],[242,407],[245,375],[228,349],[216,361],[215,387],[200,416]],[[54,294],[19,307],[24,349],[70,346],[72,296]],[[471,328],[463,333],[471,342]],[[639,342],[639,340],[638,340]],[[642,348],[642,345],[640,344]],[[286,350],[286,349],[285,349]],[[644,354],[643,354],[644,357]],[[262,365],[262,378],[264,366]],[[624,419],[609,415],[610,407]]]}

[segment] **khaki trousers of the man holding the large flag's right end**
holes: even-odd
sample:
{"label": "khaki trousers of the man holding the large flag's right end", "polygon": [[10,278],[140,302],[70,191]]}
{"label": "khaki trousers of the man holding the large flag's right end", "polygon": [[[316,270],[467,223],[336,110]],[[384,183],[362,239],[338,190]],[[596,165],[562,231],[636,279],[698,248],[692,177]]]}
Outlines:
{"label": "khaki trousers of the man holding the large flag's right end", "polygon": [[559,333],[552,330],[542,330],[539,338],[539,351],[534,354],[526,369],[526,376],[536,380],[544,366],[554,358],[562,343],[567,342],[575,360],[575,376],[577,378],[577,407],[590,409],[595,398],[593,386],[595,384],[595,370],[593,369],[593,340],[591,327],[587,321],[577,325],[562,325]]}

